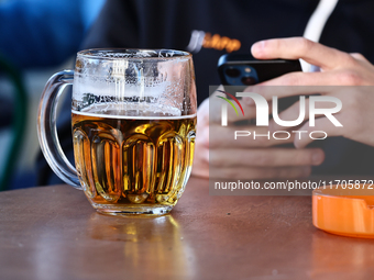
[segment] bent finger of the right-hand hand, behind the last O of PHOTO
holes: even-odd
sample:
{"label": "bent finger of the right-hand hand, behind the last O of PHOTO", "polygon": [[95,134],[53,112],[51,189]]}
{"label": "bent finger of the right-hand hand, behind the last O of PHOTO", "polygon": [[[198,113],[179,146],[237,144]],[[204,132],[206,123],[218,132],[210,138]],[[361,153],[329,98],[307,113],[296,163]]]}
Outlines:
{"label": "bent finger of the right-hand hand, behind the last O of PHOTO", "polygon": [[304,131],[305,133],[300,134],[300,137],[295,137],[295,147],[305,148],[311,142],[324,139],[327,136],[343,136],[343,126],[334,126],[327,117],[317,119],[315,126],[309,125],[309,122],[306,122],[299,128],[299,131]]}

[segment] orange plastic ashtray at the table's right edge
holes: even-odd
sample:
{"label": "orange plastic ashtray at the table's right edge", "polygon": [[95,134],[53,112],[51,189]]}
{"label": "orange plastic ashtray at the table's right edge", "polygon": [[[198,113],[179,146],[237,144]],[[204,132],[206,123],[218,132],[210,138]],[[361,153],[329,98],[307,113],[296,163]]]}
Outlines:
{"label": "orange plastic ashtray at the table's right edge", "polygon": [[374,187],[316,189],[312,193],[312,223],[332,234],[374,238]]}

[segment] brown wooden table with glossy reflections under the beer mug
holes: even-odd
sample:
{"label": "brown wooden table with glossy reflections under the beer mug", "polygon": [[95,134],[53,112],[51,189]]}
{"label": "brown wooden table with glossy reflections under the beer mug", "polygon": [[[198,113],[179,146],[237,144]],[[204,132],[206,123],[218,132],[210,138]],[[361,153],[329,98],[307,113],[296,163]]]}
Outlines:
{"label": "brown wooden table with glossy reflections under the beer mug", "polygon": [[97,214],[68,186],[0,193],[0,279],[374,279],[374,240],[311,224],[310,197],[211,197],[170,215]]}

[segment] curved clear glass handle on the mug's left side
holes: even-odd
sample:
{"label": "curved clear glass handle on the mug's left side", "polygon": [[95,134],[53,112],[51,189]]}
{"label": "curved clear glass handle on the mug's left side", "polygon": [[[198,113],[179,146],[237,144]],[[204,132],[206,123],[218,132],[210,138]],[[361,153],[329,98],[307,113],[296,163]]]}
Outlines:
{"label": "curved clear glass handle on the mug's left side", "polygon": [[81,190],[77,170],[65,156],[56,128],[57,103],[66,86],[73,85],[73,79],[74,70],[63,70],[47,81],[38,105],[37,136],[52,170],[66,183]]}

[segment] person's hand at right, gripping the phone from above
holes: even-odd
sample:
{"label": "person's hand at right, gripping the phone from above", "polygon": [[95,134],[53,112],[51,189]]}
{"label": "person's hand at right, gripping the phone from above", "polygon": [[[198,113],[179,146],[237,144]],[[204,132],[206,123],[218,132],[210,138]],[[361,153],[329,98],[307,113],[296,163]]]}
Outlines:
{"label": "person's hand at right, gripping the phone from above", "polygon": [[[252,54],[258,59],[297,59],[320,67],[320,72],[292,72],[276,79],[263,82],[262,86],[354,86],[323,87],[322,96],[337,97],[342,102],[342,109],[334,114],[343,127],[334,126],[327,117],[316,119],[316,126],[306,122],[299,131],[324,131],[328,136],[344,136],[374,146],[374,66],[361,54],[346,54],[334,48],[314,43],[302,37],[262,41],[252,46]],[[301,91],[304,92],[300,92]],[[312,87],[300,87],[297,90],[283,92],[284,96],[310,94]],[[272,100],[272,92],[262,92]],[[279,96],[282,98],[282,96]],[[244,99],[251,103],[251,100]],[[308,101],[306,102],[308,109]],[[299,114],[299,103],[279,114],[282,120],[296,120]],[[308,111],[306,116],[308,116]],[[272,130],[278,130],[274,122]],[[284,128],[284,127],[283,127]],[[312,139],[310,137],[295,138],[295,146],[302,148]]]}

